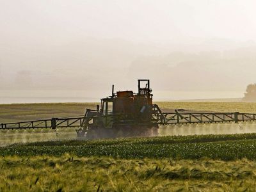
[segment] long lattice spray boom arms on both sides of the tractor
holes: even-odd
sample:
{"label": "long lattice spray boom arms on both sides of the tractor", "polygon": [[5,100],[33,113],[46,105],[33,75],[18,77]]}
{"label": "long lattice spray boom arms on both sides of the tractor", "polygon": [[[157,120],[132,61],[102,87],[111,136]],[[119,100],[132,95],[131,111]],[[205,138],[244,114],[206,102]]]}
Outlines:
{"label": "long lattice spray boom arms on both sides of the tractor", "polygon": [[[246,122],[255,121],[255,113],[215,113],[215,112],[186,112],[175,110],[172,113],[162,113],[157,105],[152,105],[152,122],[159,125],[173,124],[204,124],[217,122]],[[86,127],[93,116],[99,115],[99,111],[87,109],[84,116],[70,118],[51,118],[26,122],[0,124],[0,130],[8,129],[56,129],[56,128],[80,128],[86,131]]]}

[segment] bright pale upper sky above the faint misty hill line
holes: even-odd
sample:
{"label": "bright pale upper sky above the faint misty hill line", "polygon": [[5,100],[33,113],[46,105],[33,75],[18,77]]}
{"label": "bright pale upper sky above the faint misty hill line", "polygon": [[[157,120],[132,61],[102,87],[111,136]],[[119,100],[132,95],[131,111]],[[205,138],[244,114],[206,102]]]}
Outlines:
{"label": "bright pale upper sky above the faint misty hill line", "polygon": [[255,40],[255,7],[253,0],[1,0],[1,35],[40,44],[85,36],[154,42]]}

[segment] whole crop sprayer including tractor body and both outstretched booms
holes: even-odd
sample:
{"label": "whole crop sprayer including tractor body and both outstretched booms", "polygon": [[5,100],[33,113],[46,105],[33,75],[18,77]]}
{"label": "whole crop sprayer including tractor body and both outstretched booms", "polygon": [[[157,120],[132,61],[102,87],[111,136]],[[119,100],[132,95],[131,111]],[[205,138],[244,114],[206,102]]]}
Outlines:
{"label": "whole crop sprayer including tractor body and both outstretched booms", "polygon": [[256,120],[256,114],[253,113],[216,113],[184,109],[162,112],[157,104],[153,104],[152,97],[150,81],[139,79],[138,93],[128,90],[115,93],[112,86],[111,96],[101,99],[96,109],[86,109],[84,116],[0,124],[0,130],[75,127],[78,137],[94,139],[157,135],[159,125]]}

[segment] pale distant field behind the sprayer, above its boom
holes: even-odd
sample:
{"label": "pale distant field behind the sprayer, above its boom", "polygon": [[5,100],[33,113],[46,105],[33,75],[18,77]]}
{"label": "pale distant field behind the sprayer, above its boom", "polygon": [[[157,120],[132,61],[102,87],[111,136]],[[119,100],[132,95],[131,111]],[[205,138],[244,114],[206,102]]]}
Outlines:
{"label": "pale distant field behind the sprayer, above its boom", "polygon": [[[163,111],[182,108],[197,111],[256,113],[256,102],[156,102],[156,104]],[[96,109],[96,105],[97,103],[0,104],[0,123],[83,116],[86,108]]]}

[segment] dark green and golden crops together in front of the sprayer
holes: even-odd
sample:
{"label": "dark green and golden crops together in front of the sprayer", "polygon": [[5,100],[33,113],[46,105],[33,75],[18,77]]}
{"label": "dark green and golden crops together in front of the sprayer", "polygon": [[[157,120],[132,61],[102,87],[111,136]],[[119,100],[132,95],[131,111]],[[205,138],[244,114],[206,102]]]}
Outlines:
{"label": "dark green and golden crops together in front of the sprayer", "polygon": [[1,191],[253,191],[256,134],[0,148]]}

